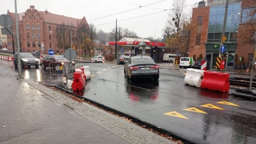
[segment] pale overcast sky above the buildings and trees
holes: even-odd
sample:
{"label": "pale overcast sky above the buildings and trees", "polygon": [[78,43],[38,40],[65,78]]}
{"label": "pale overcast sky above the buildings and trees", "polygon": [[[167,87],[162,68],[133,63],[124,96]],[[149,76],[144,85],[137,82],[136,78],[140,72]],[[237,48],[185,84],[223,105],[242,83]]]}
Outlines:
{"label": "pale overcast sky above the buildings and trees", "polygon": [[[38,11],[77,19],[86,18],[98,30],[109,33],[117,26],[128,28],[139,37],[162,38],[162,29],[172,9],[174,0],[17,0],[18,13],[25,12],[30,5]],[[201,0],[187,0],[186,9],[191,10]],[[15,12],[14,0],[1,0],[0,15],[7,10]],[[142,6],[142,7],[140,7]],[[144,15],[144,16],[143,16]]]}

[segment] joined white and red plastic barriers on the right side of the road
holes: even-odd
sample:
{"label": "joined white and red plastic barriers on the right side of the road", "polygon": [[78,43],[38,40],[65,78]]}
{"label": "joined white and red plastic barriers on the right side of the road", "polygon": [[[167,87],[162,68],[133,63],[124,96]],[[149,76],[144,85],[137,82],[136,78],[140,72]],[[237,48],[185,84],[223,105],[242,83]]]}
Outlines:
{"label": "joined white and red plastic barriers on the right side of the road", "polygon": [[219,92],[229,91],[229,74],[188,68],[185,84]]}

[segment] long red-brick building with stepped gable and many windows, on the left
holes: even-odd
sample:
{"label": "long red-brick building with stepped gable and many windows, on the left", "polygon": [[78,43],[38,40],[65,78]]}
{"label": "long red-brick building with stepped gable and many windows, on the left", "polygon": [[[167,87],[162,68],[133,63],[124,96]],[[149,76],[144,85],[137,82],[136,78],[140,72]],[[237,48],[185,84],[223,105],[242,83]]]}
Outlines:
{"label": "long red-brick building with stepped gable and many windows, on the left", "polygon": [[[13,33],[16,35],[15,13],[8,10],[7,14],[13,19]],[[32,53],[33,51],[40,51],[43,54],[47,54],[48,50],[52,49],[55,53],[64,53],[65,49],[58,46],[56,28],[58,25],[65,24],[67,26],[72,25],[72,47],[76,47],[78,54],[83,54],[83,51],[79,49],[76,42],[77,29],[82,23],[86,23],[88,26],[85,17],[75,19],[48,11],[37,11],[35,6],[30,6],[30,9],[27,9],[26,12],[18,13],[21,52]],[[7,49],[12,50],[12,35],[7,35],[7,43]],[[15,51],[17,51],[15,42],[14,46]]]}

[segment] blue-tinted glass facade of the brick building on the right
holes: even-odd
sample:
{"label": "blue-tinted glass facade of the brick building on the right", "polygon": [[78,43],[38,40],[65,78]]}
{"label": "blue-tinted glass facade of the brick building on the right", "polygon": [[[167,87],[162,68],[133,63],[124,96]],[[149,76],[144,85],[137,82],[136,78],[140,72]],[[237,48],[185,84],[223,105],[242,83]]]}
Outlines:
{"label": "blue-tinted glass facade of the brick building on the right", "polygon": [[[225,52],[220,55],[226,61],[226,67],[233,66],[236,52],[237,33],[240,21],[241,3],[228,4],[226,27],[225,27]],[[225,5],[210,7],[209,26],[207,33],[206,59],[211,60],[211,66],[215,66],[219,57]]]}

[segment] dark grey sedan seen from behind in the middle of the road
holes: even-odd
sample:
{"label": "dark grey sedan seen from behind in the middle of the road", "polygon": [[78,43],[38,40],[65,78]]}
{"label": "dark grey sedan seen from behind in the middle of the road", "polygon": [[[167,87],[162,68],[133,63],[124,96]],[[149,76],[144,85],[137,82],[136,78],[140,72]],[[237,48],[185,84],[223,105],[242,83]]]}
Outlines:
{"label": "dark grey sedan seen from behind in the middle of the road", "polygon": [[124,74],[129,79],[154,78],[159,79],[159,66],[149,56],[134,56],[124,64]]}

